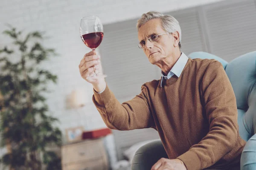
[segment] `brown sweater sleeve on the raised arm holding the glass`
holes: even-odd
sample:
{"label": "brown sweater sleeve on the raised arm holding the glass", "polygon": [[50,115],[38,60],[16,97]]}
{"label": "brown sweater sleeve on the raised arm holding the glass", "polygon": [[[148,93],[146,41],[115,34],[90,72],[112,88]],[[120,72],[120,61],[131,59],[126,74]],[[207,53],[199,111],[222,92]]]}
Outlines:
{"label": "brown sweater sleeve on the raised arm holding the glass", "polygon": [[94,91],[93,103],[110,129],[133,130],[155,127],[144,85],[139,95],[122,104],[107,85],[100,94]]}

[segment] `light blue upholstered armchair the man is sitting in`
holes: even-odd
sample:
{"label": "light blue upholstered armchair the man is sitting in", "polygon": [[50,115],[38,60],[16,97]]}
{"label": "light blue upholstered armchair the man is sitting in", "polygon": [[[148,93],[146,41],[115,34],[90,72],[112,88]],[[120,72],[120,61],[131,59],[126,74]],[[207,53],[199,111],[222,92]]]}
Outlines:
{"label": "light blue upholstered armchair the man is sitting in", "polygon": [[[223,65],[236,95],[239,134],[247,141],[241,156],[241,170],[256,170],[256,51],[229,63],[206,52],[194,52],[189,57],[216,59]],[[168,158],[160,140],[145,144],[137,150],[131,170],[150,170],[160,158]]]}

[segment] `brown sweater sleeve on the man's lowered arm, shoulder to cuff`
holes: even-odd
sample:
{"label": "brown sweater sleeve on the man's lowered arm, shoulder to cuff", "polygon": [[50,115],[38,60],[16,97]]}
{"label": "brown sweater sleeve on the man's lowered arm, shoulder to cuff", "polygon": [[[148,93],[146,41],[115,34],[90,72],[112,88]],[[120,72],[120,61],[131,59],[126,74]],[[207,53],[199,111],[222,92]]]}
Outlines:
{"label": "brown sweater sleeve on the man's lowered arm, shoulder to cuff", "polygon": [[178,157],[188,170],[215,164],[233,149],[238,134],[236,97],[220,62],[208,65],[201,87],[209,133]]}

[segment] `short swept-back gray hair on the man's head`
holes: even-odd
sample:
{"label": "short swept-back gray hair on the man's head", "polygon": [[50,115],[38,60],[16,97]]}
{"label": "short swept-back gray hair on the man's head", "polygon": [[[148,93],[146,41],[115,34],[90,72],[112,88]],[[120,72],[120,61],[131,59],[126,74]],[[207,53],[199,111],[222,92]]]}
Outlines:
{"label": "short swept-back gray hair on the man's head", "polygon": [[179,22],[172,17],[171,15],[164,15],[157,11],[149,11],[146,14],[143,14],[141,18],[137,21],[137,31],[139,31],[140,27],[143,26],[146,22],[149,20],[153,20],[156,18],[161,19],[162,27],[166,32],[175,32],[177,31],[180,35],[179,39],[179,48],[181,48],[180,42],[181,42],[181,29]]}

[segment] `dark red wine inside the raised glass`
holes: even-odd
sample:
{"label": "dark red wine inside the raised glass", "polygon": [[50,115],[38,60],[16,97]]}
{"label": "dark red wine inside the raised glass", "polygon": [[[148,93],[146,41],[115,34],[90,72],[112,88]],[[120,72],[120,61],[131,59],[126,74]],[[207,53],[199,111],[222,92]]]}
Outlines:
{"label": "dark red wine inside the raised glass", "polygon": [[102,42],[103,32],[93,32],[90,34],[84,34],[81,38],[87,47],[95,49]]}

